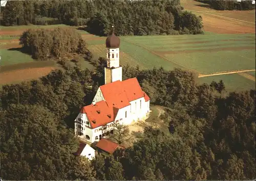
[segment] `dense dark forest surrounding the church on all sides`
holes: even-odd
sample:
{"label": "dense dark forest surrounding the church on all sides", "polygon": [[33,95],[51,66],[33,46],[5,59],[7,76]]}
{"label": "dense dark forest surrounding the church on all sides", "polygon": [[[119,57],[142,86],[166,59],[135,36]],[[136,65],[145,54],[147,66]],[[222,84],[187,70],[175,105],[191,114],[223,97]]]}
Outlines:
{"label": "dense dark forest surrounding the church on all sides", "polygon": [[94,72],[63,61],[63,69],[40,80],[3,86],[3,179],[255,178],[255,90],[197,85],[194,74],[181,69],[124,66],[123,80],[137,77],[151,103],[166,107],[161,119],[169,126],[145,128],[124,156],[75,157],[74,119],[103,84],[104,63],[99,59]]}

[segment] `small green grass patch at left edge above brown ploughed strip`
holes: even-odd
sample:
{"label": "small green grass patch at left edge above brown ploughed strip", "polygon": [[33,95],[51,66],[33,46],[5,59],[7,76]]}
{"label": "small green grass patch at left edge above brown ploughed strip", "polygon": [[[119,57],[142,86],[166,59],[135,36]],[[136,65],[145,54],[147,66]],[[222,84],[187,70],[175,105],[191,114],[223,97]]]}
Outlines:
{"label": "small green grass patch at left edge above brown ploughed strip", "polygon": [[12,65],[25,62],[33,62],[30,55],[21,53],[17,50],[1,49],[1,66]]}

